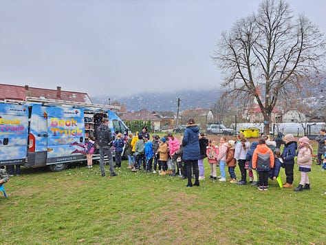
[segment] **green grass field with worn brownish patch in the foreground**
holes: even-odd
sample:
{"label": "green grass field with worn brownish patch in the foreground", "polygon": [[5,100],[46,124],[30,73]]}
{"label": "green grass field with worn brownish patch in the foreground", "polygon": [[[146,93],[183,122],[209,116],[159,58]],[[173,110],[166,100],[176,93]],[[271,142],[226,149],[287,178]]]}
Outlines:
{"label": "green grass field with worn brownish patch in the foreground", "polygon": [[0,197],[0,243],[326,244],[320,166],[309,173],[312,189],[294,192],[271,180],[268,191],[209,180],[205,164],[206,180],[193,188],[178,177],[133,173],[127,161],[106,178],[98,164],[22,169],[6,184],[8,198]]}

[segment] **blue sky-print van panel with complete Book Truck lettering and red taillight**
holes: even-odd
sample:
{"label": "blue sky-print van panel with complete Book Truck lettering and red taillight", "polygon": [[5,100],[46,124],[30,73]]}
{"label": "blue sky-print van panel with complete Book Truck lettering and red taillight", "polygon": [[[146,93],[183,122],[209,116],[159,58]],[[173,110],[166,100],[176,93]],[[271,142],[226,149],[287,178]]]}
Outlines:
{"label": "blue sky-print van panel with complete Book Truck lettering and red taillight", "polygon": [[84,160],[83,109],[32,105],[28,167]]}

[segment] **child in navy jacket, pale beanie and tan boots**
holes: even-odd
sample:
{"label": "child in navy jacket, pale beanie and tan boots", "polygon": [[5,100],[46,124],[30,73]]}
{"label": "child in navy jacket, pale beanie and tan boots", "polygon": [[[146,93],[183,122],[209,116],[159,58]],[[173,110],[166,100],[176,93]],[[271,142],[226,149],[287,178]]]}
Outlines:
{"label": "child in navy jacket, pale beanie and tan boots", "polygon": [[294,141],[292,134],[284,136],[285,147],[283,148],[281,157],[285,166],[286,182],[283,184],[284,188],[293,187],[293,169],[294,169],[294,157],[296,156],[297,143]]}

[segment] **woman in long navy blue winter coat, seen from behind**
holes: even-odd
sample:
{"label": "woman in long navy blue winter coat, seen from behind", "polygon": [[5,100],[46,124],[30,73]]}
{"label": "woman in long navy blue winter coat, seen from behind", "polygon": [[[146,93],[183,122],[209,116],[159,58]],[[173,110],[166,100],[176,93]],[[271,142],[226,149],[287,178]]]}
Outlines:
{"label": "woman in long navy blue winter coat, seen from behind", "polygon": [[[199,127],[195,124],[193,118],[188,119],[184,138],[182,138],[182,147],[184,147],[183,160],[186,164],[188,184],[187,187],[193,187],[191,178],[195,174],[195,184],[199,187],[198,159],[200,158],[199,149]],[[192,173],[193,170],[193,173]]]}

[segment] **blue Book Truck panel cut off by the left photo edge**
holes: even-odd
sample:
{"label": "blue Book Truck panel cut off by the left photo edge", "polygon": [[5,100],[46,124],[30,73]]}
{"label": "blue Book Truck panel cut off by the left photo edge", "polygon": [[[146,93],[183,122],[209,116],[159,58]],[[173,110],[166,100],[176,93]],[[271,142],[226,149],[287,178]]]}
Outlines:
{"label": "blue Book Truck panel cut off by the left photo edge", "polygon": [[28,107],[0,103],[0,165],[25,164]]}

